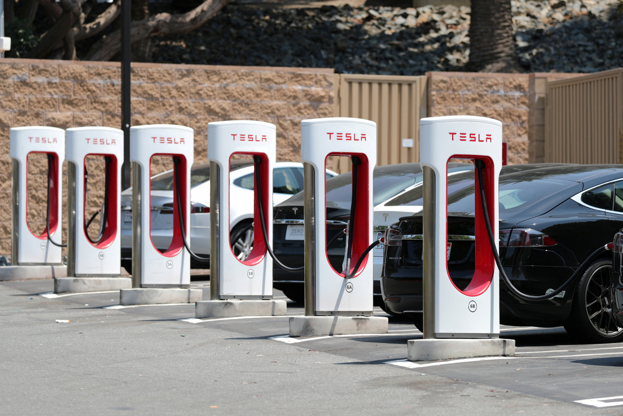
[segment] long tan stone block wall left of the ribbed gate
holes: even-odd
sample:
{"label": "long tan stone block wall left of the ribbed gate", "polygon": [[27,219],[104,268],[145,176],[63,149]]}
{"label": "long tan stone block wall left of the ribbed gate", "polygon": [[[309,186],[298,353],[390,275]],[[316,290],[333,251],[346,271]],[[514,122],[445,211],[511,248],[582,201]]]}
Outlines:
{"label": "long tan stone block wall left of the ribbed gate", "polygon": [[[0,63],[0,255],[11,253],[9,128],[121,125],[118,62],[2,59]],[[194,129],[194,162],[207,161],[207,123],[261,120],[277,126],[277,160],[300,160],[300,121],[333,113],[333,69],[132,64],[132,125],[174,123]],[[152,165],[159,173],[170,161]],[[87,215],[103,201],[103,162],[88,162]],[[63,241],[67,233],[67,167]],[[29,218],[45,228],[47,163],[29,165]],[[97,234],[98,218],[89,229]],[[59,242],[57,236],[55,241]]]}

